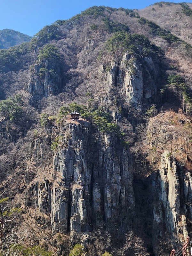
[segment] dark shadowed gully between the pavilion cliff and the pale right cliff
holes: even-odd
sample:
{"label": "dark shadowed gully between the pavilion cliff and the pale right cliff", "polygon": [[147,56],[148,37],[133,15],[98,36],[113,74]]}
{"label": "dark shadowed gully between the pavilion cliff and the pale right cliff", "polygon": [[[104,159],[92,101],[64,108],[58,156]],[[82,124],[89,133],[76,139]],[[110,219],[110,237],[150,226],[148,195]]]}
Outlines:
{"label": "dark shadowed gully between the pavilion cliff and the pale right cliff", "polygon": [[[158,171],[152,172],[148,177],[134,174],[133,191],[135,196],[135,218],[133,220],[133,231],[141,237],[150,253],[160,255],[170,254],[172,245],[170,240],[174,237],[171,226],[174,218],[169,201],[166,207],[159,198],[161,191],[161,177]],[[169,220],[167,218],[169,213]],[[167,222],[170,223],[168,226]]]}

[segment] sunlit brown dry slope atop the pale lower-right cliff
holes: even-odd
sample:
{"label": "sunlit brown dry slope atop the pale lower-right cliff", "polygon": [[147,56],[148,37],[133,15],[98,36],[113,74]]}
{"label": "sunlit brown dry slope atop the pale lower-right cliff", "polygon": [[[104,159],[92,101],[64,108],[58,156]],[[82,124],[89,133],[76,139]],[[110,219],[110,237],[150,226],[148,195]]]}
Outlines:
{"label": "sunlit brown dry slope atop the pale lower-right cliff", "polygon": [[186,118],[182,113],[165,111],[149,120],[147,144],[143,144],[143,150],[147,153],[146,159],[153,166],[152,170],[159,167],[161,154],[168,150],[187,171],[191,172],[191,142],[191,118]]}

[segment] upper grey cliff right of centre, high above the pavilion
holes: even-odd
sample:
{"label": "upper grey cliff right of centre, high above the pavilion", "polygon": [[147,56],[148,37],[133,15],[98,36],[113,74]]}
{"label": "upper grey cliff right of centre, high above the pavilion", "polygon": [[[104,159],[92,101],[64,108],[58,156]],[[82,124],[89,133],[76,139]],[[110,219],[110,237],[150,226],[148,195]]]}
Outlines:
{"label": "upper grey cliff right of centre, high above the pavilion", "polygon": [[[159,68],[149,56],[144,57],[142,62],[143,64],[130,54],[124,54],[119,64],[111,61],[111,68],[106,78],[109,95],[114,87],[120,86],[119,93],[129,106],[142,108],[144,103],[150,102],[157,94],[156,79],[159,76]],[[153,74],[153,79],[150,73]],[[110,102],[108,98],[105,101]]]}

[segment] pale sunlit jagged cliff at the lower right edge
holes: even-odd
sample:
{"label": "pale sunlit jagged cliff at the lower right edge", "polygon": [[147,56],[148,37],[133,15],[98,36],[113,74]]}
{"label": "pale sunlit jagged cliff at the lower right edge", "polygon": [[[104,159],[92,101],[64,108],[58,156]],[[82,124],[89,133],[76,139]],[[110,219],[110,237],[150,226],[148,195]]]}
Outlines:
{"label": "pale sunlit jagged cliff at the lower right edge", "polygon": [[168,232],[172,241],[188,236],[188,220],[191,219],[192,183],[190,172],[184,171],[173,156],[165,151],[160,166],[151,175],[153,193],[153,240]]}

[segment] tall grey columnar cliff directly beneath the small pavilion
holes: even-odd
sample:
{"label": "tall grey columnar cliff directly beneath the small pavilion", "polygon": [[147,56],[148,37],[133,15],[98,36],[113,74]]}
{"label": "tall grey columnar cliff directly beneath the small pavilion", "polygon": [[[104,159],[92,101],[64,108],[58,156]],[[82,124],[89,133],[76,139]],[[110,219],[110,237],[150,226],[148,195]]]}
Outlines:
{"label": "tall grey columnar cliff directly beneath the small pavilion", "polygon": [[127,217],[134,211],[131,155],[118,149],[114,136],[97,135],[94,141],[87,122],[66,123],[53,160],[54,181],[44,179],[33,186],[38,207],[51,217],[55,231],[82,233],[103,225],[108,231],[116,226],[123,231],[131,225]]}

